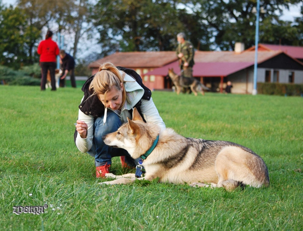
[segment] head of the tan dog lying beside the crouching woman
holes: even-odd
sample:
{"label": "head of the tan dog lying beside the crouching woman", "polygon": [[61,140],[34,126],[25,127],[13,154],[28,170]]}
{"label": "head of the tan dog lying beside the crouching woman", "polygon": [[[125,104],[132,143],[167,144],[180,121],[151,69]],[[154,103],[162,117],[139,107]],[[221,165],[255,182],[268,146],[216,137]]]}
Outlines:
{"label": "head of the tan dog lying beside the crouching woman", "polygon": [[148,125],[136,108],[132,118],[127,118],[128,123],[123,124],[116,132],[103,135],[102,139],[108,146],[125,149],[135,159],[143,155],[154,140],[151,139]]}

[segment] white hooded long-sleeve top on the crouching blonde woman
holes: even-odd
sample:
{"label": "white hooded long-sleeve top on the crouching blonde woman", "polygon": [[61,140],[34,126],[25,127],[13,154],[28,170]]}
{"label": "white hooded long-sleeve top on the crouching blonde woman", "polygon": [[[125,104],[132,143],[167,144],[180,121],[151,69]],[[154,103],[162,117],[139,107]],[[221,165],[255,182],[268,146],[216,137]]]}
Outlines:
{"label": "white hooded long-sleeve top on the crouching blonde woman", "polygon": [[[124,74],[122,73],[122,71],[120,72],[121,74]],[[125,104],[124,107],[121,109],[120,114],[118,114],[117,111],[114,111],[119,116],[119,119],[121,120],[122,124],[127,123],[127,117],[132,118],[132,115],[128,112],[128,110],[133,109],[133,107],[139,102],[139,100],[144,94],[144,89],[128,74],[125,74],[124,81],[125,82],[123,83],[123,85],[126,91]],[[110,108],[108,109],[112,110]],[[147,123],[155,123],[161,128],[165,128],[165,124],[162,118],[160,117],[152,98],[150,100],[142,99],[140,109]],[[86,115],[79,109],[78,120],[84,121],[88,126],[86,132],[87,137],[83,139],[78,133],[76,138],[76,146],[79,151],[83,153],[87,152],[92,148],[92,141],[94,138],[94,119],[95,118],[92,115]]]}

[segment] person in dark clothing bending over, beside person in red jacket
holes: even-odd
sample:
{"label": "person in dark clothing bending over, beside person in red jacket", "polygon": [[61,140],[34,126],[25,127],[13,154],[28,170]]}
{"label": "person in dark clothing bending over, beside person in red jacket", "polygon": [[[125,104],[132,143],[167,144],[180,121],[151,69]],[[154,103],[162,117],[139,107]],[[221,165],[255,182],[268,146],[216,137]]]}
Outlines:
{"label": "person in dark clothing bending over, beside person in red jacket", "polygon": [[71,83],[72,87],[76,87],[76,80],[75,80],[75,60],[74,58],[68,54],[65,53],[65,50],[60,51],[60,58],[62,62],[62,75],[60,76],[60,87],[65,86],[65,77],[67,73],[69,72],[69,75],[71,76]]}

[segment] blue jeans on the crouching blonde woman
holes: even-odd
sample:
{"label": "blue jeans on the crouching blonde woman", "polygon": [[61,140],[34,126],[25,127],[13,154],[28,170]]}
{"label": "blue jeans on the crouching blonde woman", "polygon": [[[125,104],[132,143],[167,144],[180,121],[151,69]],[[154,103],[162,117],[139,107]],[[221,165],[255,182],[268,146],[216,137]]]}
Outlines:
{"label": "blue jeans on the crouching blonde woman", "polygon": [[112,133],[118,130],[121,126],[121,120],[115,112],[107,111],[106,122],[103,125],[103,117],[98,117],[94,121],[94,138],[92,148],[87,152],[92,157],[95,157],[95,166],[112,164],[112,157],[128,156],[128,152],[122,148],[113,148],[106,145],[102,140],[102,135]]}

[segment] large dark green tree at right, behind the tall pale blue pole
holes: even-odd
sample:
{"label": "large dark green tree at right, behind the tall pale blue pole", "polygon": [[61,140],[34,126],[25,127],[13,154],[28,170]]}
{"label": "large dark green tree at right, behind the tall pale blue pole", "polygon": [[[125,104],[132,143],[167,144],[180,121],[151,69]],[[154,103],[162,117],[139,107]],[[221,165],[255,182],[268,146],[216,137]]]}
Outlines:
{"label": "large dark green tree at right, behind the tall pale blue pole", "polygon": [[[245,47],[255,44],[256,15],[253,7],[256,0],[213,0],[193,1],[200,5],[199,14],[213,28],[216,45],[221,50],[234,49],[235,42],[243,42]],[[265,13],[260,14],[260,42],[292,45],[296,38],[296,29],[290,22],[279,20],[282,6],[298,4],[301,0],[262,0],[260,7]],[[281,40],[280,40],[281,39]]]}

